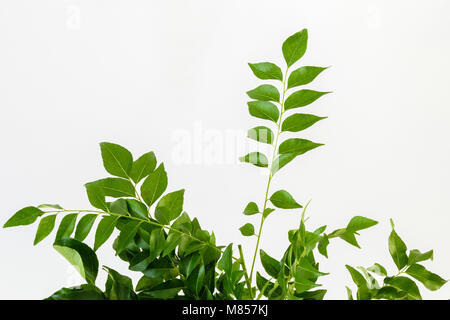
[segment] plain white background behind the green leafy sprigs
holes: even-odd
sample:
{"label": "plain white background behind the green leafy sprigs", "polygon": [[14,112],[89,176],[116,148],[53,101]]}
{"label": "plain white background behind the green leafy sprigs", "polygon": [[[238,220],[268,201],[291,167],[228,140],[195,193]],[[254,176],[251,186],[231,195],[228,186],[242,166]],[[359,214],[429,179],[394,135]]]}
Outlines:
{"label": "plain white background behind the green leafy sprigs", "polygon": [[[245,92],[261,82],[247,62],[283,65],[283,40],[308,28],[296,66],[331,65],[309,88],[334,93],[301,110],[329,117],[301,136],[326,145],[281,170],[272,190],[312,199],[311,229],[332,231],[354,215],[380,222],[361,232],[362,249],[335,239],[329,259],[320,258],[331,272],[320,279],[327,298],[354,289],[346,263],[396,271],[390,217],[410,249],[435,249],[426,266],[448,278],[449,10],[446,0],[1,1],[0,223],[26,205],[89,207],[83,184],[105,176],[98,143],[111,141],[135,155],[153,150],[169,190],[186,188],[186,211],[220,244],[242,243],[250,260],[255,241],[238,227],[257,219],[241,211],[261,203],[266,178],[249,165],[207,160],[204,149],[194,151],[199,161],[180,163],[174,137],[201,126],[245,141],[243,130],[264,124],[248,115]],[[298,219],[274,213],[262,248],[280,258]],[[2,299],[40,299],[81,282],[52,239],[32,246],[36,227],[0,231]],[[99,259],[126,272],[109,243]],[[450,296],[449,285],[421,291]]]}

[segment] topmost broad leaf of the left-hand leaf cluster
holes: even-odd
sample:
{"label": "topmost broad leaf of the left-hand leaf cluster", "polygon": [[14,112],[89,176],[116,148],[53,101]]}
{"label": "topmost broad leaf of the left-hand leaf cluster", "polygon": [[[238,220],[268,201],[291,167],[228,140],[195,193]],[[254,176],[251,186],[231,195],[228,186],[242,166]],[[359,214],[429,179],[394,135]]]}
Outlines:
{"label": "topmost broad leaf of the left-hand leaf cluster", "polygon": [[130,151],[118,144],[100,143],[103,166],[113,176],[128,178],[133,165],[133,156]]}

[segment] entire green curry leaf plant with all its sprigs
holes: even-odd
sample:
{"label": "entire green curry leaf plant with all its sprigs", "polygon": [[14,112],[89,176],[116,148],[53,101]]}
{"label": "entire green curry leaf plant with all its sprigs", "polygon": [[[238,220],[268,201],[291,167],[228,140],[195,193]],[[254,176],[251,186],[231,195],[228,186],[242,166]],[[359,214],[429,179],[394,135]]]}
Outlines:
{"label": "entire green curry leaf plant with all its sprigs", "polygon": [[[36,223],[34,245],[54,233],[54,249],[83,277],[85,283],[62,288],[47,299],[322,300],[326,289],[319,278],[329,273],[319,269],[317,255],[328,258],[328,247],[335,238],[359,248],[360,231],[375,226],[377,221],[355,216],[331,232],[325,225],[309,231],[309,203],[301,204],[289,190],[271,188],[278,171],[323,146],[299,137],[326,119],[324,115],[300,112],[300,108],[308,109],[329,93],[304,87],[327,69],[295,66],[306,53],[307,42],[305,29],[283,43],[284,71],[272,62],[249,64],[253,74],[264,82],[247,92],[251,99],[249,113],[261,122],[248,131],[248,138],[270,145],[272,154],[254,151],[240,158],[267,171],[263,200],[252,199],[243,209],[246,216],[258,215],[260,223],[257,227],[246,223],[239,229],[245,237],[256,237],[248,267],[242,245],[218,245],[214,233],[202,229],[197,218],[183,210],[185,190],[169,187],[166,168],[153,152],[134,158],[126,148],[102,142],[103,166],[110,176],[85,184],[92,209],[65,209],[58,204],[27,206],[4,224],[9,228]],[[288,134],[295,137],[288,138]],[[282,210],[297,212],[299,223],[288,232],[289,245],[280,258],[264,251],[260,243],[264,222],[275,219]],[[139,275],[137,283],[103,266],[108,276],[104,286],[98,286],[100,263],[96,252],[110,239],[116,256],[128,264],[130,273]],[[408,254],[394,230],[389,237],[389,251],[398,268],[394,276],[388,276],[380,264],[359,268],[362,273],[346,266],[358,287],[357,299],[420,299],[411,278],[430,290],[446,283],[419,263],[431,259],[433,251],[414,249]],[[257,271],[258,257],[262,269]],[[382,286],[372,274],[384,277]],[[353,298],[351,289],[347,288],[347,293]]]}

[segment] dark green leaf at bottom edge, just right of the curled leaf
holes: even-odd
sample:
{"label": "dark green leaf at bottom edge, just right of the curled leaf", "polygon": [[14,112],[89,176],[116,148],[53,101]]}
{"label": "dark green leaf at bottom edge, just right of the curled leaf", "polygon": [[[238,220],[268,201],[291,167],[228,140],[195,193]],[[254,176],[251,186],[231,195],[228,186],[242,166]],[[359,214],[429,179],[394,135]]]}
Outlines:
{"label": "dark green leaf at bottom edge, just right of the curled leaf", "polygon": [[105,295],[109,300],[136,300],[133,291],[133,282],[127,276],[117,271],[103,267],[108,272],[108,280],[105,285]]}

